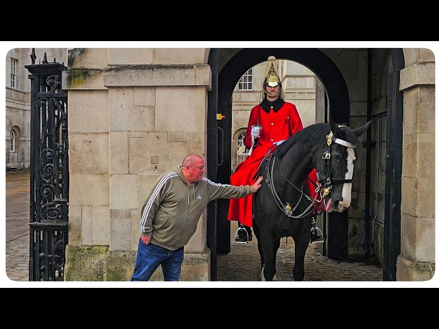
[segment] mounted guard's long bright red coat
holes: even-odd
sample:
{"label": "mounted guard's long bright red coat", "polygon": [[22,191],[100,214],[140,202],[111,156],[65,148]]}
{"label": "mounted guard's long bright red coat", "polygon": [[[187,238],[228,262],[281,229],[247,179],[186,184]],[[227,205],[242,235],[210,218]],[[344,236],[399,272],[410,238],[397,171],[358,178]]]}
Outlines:
{"label": "mounted guard's long bright red coat", "polygon": [[[254,106],[250,112],[250,119],[248,120],[248,127],[246,137],[244,138],[244,145],[248,149],[252,146],[251,130],[252,125],[259,124],[262,130],[259,133],[259,141],[257,146],[253,147],[252,154],[241,162],[235,170],[235,173],[230,176],[230,184],[252,185],[256,180],[253,176],[256,173],[259,164],[267,154],[273,143],[285,140],[292,134],[303,129],[302,121],[297,112],[296,106],[292,103],[285,102],[279,110],[274,112],[273,109],[269,113],[265,112],[260,105]],[[274,151],[274,149],[273,149]],[[311,171],[309,177],[313,182],[317,182],[316,170]],[[261,184],[265,184],[262,181]],[[315,186],[307,182],[311,190],[311,197],[314,197]],[[241,197],[239,199],[230,199],[230,206],[228,208],[228,220],[239,221],[245,226],[252,226],[252,195]]]}

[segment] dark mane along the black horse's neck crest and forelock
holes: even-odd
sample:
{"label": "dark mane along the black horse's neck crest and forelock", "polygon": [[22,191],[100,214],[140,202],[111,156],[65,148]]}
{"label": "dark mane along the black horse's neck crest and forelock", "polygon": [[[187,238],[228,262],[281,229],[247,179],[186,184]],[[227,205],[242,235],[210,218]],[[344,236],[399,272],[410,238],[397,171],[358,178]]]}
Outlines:
{"label": "dark mane along the black horse's neck crest and forelock", "polygon": [[[344,136],[339,136],[339,138],[342,138],[344,141],[351,143],[354,146],[357,146],[358,138],[355,132],[351,130],[351,128],[346,127],[346,125],[340,125],[339,127],[344,132]],[[316,141],[317,145],[323,145],[324,143],[326,143],[326,136],[327,134],[329,134],[329,132],[329,123],[316,123],[314,125],[309,125],[308,127],[296,132],[296,134],[290,136],[287,141],[278,146],[278,157],[282,158],[283,156],[285,156],[287,151],[298,140]],[[320,143],[320,141],[322,143]],[[311,149],[309,151],[311,151]]]}

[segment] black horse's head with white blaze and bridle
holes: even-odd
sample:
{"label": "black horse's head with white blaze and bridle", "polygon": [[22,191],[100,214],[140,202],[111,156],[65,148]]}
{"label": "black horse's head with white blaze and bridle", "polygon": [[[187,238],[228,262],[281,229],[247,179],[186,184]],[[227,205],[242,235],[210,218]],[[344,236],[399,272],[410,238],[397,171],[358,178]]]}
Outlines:
{"label": "black horse's head with white blaze and bridle", "polygon": [[351,130],[344,125],[336,125],[332,118],[329,120],[331,132],[327,135],[327,143],[316,154],[318,180],[324,188],[325,210],[342,212],[351,205],[352,177],[355,161],[355,147],[358,136],[366,132],[371,121]]}

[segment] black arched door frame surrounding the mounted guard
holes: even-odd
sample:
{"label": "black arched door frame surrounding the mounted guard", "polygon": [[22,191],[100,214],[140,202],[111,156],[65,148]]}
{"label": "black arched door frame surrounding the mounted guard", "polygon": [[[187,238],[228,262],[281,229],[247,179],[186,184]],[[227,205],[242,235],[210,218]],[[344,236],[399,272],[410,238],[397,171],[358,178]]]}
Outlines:
{"label": "black arched door frame surrounding the mounted guard", "polygon": [[[208,177],[218,183],[230,184],[232,94],[239,78],[252,66],[265,62],[269,56],[292,60],[307,66],[324,85],[330,115],[335,122],[348,123],[350,117],[346,82],[333,61],[318,49],[236,49],[225,56],[224,49],[211,49],[212,90],[209,92],[208,114]],[[230,49],[226,49],[230,54]],[[255,104],[256,105],[256,104]],[[224,119],[217,120],[217,114]],[[211,280],[216,280],[216,254],[230,252],[230,222],[227,220],[228,200],[219,199],[208,208],[207,239],[211,249]],[[327,256],[342,258],[348,251],[348,212],[329,215]],[[214,259],[215,258],[215,259]]]}

